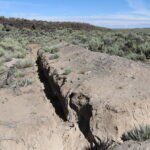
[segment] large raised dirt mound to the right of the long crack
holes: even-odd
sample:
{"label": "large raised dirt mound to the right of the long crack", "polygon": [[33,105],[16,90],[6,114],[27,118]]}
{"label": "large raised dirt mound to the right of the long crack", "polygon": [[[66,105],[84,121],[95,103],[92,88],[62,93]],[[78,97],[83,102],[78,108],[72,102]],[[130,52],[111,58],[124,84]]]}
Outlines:
{"label": "large raised dirt mound to the right of the long crack", "polygon": [[39,56],[41,69],[65,117],[89,142],[120,142],[125,132],[150,124],[149,66],[68,44],[52,55]]}

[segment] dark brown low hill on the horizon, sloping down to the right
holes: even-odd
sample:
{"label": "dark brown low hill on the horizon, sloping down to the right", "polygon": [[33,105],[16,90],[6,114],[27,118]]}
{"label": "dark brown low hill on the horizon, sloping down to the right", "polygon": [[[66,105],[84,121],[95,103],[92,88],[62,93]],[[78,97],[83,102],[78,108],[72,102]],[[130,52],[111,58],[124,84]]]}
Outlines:
{"label": "dark brown low hill on the horizon, sloping down to the right", "polygon": [[48,21],[39,21],[39,20],[27,20],[19,18],[5,18],[0,17],[0,24],[4,26],[13,26],[17,28],[28,28],[32,30],[56,30],[56,29],[65,29],[71,28],[74,30],[110,30],[103,27],[98,27],[90,25],[87,23],[77,23],[77,22],[48,22]]}

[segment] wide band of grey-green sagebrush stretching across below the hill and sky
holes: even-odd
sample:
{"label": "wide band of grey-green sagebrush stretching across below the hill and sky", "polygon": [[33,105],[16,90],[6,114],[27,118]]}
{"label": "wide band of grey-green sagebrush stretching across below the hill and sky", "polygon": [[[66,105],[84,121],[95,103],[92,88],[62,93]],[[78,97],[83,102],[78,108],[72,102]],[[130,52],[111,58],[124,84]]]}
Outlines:
{"label": "wide band of grey-green sagebrush stretching across below the hill and sky", "polygon": [[51,45],[65,41],[92,51],[135,61],[150,59],[150,29],[104,30],[96,28],[95,30],[83,30],[78,28],[74,30],[63,27],[53,31],[44,31],[36,28],[34,30],[17,29],[9,25],[0,25],[0,35],[2,37],[0,38],[0,57],[5,55],[4,50],[13,53],[15,58],[24,58],[27,51],[26,45],[29,43],[38,43],[43,52],[55,54],[59,47],[49,46],[51,41],[53,41]]}

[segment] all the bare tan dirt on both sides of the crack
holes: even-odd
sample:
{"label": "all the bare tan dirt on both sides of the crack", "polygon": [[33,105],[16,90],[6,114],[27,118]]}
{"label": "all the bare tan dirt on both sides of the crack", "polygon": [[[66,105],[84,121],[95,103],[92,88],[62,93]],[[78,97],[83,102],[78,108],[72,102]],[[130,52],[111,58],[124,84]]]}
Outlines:
{"label": "all the bare tan dirt on both sides of the crack", "polygon": [[[121,144],[125,132],[150,125],[149,65],[67,43],[58,46],[59,58],[51,60],[52,54],[37,56],[39,46],[29,45],[27,57],[35,65],[25,71],[32,85],[0,82],[0,150],[84,150],[107,140]],[[127,142],[113,150],[148,147],[148,142]]]}

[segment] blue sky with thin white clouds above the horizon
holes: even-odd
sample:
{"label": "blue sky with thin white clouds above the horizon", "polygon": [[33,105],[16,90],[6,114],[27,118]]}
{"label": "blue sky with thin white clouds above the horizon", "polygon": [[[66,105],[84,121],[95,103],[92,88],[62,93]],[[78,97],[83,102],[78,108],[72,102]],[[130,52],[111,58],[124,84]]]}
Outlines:
{"label": "blue sky with thin white clouds above the horizon", "polygon": [[0,0],[0,16],[150,28],[150,0]]}

